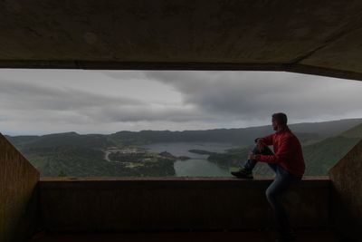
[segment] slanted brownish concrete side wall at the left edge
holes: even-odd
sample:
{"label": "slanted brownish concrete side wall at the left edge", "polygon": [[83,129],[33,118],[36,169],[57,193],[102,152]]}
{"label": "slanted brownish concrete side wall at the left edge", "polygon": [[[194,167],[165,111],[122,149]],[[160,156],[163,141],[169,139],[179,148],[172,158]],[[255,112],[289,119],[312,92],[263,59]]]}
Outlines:
{"label": "slanted brownish concrete side wall at the left edge", "polygon": [[0,134],[0,242],[32,234],[38,180],[39,172]]}

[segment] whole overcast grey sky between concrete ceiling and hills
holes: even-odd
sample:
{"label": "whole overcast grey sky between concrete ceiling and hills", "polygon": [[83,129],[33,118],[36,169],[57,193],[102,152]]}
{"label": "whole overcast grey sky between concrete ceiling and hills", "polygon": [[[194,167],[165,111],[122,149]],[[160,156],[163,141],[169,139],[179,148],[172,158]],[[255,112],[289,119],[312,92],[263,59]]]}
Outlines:
{"label": "whole overcast grey sky between concrete ceiling and hills", "polygon": [[362,82],[279,72],[0,69],[0,132],[208,130],[362,117]]}

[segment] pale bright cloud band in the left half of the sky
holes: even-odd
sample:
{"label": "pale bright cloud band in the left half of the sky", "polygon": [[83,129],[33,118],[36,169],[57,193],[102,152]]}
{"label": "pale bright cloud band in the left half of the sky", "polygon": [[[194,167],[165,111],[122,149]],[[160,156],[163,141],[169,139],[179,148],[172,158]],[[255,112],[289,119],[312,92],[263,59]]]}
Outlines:
{"label": "pale bright cloud band in the left half of the sky", "polygon": [[[137,97],[137,93],[135,93]],[[191,105],[148,103],[147,100],[110,97],[72,88],[46,87],[35,83],[0,82],[0,107],[12,118],[24,121],[50,121],[54,124],[87,124],[129,121],[200,121]]]}

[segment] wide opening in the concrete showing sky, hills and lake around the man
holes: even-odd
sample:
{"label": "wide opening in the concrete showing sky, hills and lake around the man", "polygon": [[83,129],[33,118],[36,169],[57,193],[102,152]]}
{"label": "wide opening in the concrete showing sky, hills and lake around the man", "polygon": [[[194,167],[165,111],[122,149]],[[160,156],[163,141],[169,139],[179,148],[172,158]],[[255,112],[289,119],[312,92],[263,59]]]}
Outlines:
{"label": "wide opening in the concrete showing sky, hills and lake around the man", "polygon": [[[0,70],[1,132],[42,177],[228,177],[287,113],[306,176],[362,137],[357,81],[281,72]],[[338,149],[336,149],[338,147]],[[259,162],[256,176],[272,176]]]}

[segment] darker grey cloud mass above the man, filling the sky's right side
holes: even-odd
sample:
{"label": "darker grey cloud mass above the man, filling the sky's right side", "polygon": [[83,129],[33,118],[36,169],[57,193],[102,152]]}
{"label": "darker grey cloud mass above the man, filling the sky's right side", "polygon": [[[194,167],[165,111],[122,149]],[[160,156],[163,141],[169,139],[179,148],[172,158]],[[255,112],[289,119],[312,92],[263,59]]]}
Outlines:
{"label": "darker grey cloud mass above the man, filling the sky's right side", "polygon": [[286,111],[294,119],[338,116],[359,110],[362,82],[296,73],[147,72],[173,85],[201,110],[243,120]]}

